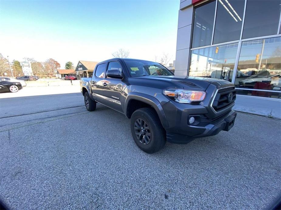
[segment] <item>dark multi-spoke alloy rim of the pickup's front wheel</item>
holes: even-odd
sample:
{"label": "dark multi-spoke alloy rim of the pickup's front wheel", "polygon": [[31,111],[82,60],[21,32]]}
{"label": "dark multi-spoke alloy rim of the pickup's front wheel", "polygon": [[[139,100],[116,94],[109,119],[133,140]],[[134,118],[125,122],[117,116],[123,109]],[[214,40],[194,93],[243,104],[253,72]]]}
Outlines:
{"label": "dark multi-spoke alloy rim of the pickup's front wheel", "polygon": [[148,124],[146,123],[146,121],[142,120],[142,119],[137,119],[135,121],[135,135],[137,136],[137,138],[139,139],[139,142],[144,144],[144,145],[148,145],[151,141],[151,133],[150,133],[150,129]]}

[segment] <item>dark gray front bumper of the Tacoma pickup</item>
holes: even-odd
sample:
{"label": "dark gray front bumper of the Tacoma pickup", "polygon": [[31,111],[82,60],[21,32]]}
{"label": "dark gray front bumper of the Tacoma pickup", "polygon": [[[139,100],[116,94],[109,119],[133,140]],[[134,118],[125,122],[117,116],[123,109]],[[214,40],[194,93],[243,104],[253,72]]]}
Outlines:
{"label": "dark gray front bumper of the Tacoma pickup", "polygon": [[[163,106],[164,111],[165,105]],[[172,115],[169,115],[171,110],[169,112],[165,112],[169,122],[169,127],[165,128],[166,138],[170,143],[186,144],[195,138],[214,136],[222,130],[228,131],[234,125],[237,115],[235,111],[229,110],[221,116],[214,119],[208,119],[207,117],[204,118],[208,111],[201,105],[177,104],[177,106],[177,109],[173,112],[173,119],[171,119]],[[185,106],[185,109],[181,109],[179,106]],[[171,107],[173,106],[170,106],[170,108]],[[198,121],[195,123],[196,125],[190,125],[188,123],[190,116],[197,117],[200,122]]]}

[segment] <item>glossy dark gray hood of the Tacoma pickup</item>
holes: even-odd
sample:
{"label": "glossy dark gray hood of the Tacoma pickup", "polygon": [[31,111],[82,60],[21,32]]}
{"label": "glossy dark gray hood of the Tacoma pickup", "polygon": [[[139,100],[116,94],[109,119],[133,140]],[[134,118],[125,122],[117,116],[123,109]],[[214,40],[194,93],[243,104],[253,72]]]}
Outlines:
{"label": "glossy dark gray hood of the Tacoma pickup", "polygon": [[[186,76],[141,76],[135,78],[144,78],[146,80],[162,81],[172,84],[174,88],[192,89],[192,90],[206,90],[207,87],[213,83],[216,86],[221,86],[224,84],[231,84],[226,80],[208,78],[208,77],[186,77]],[[151,81],[152,82],[152,81]]]}

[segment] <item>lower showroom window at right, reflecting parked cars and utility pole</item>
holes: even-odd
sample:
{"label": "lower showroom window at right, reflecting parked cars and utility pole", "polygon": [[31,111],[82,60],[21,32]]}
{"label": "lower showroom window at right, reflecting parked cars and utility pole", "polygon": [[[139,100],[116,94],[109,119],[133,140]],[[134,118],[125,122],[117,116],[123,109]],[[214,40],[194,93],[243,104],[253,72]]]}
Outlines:
{"label": "lower showroom window at right, reflecting parked cars and utility pole", "polygon": [[242,42],[235,86],[281,90],[281,37]]}

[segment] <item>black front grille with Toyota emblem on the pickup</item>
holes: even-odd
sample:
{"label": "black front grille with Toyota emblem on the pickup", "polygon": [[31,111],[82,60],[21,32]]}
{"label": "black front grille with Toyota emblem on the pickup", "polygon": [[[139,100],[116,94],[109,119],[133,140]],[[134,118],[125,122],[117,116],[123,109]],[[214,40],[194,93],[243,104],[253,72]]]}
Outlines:
{"label": "black front grille with Toyota emblem on the pickup", "polygon": [[[231,97],[232,93],[232,97]],[[216,112],[230,107],[236,99],[236,90],[234,86],[218,89],[214,97],[212,107]]]}

